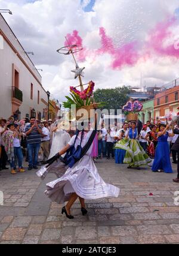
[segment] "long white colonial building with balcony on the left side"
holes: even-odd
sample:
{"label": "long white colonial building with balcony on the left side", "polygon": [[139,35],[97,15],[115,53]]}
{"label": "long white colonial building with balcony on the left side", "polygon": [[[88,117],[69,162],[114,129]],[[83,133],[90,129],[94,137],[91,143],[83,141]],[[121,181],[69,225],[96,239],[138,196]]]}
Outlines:
{"label": "long white colonial building with balcony on the left side", "polygon": [[0,89],[0,118],[48,118],[42,77],[1,14]]}

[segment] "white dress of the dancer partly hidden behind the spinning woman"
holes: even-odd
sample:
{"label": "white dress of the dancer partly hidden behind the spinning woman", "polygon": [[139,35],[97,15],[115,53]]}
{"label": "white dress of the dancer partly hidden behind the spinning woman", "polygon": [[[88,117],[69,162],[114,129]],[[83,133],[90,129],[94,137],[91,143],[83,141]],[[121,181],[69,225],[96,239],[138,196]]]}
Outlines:
{"label": "white dress of the dancer partly hidden behind the spinning woman", "polygon": [[69,143],[70,138],[70,135],[66,131],[63,131],[63,129],[57,129],[53,132],[53,141],[48,159],[52,158],[56,153],[63,149],[63,147]]}

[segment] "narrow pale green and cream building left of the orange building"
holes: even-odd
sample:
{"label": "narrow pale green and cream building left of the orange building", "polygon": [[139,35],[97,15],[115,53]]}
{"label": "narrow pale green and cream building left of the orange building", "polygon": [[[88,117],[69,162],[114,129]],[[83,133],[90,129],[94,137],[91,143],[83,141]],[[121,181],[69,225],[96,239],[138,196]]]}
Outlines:
{"label": "narrow pale green and cream building left of the orange building", "polygon": [[140,121],[143,122],[143,124],[146,124],[147,121],[151,121],[154,118],[153,103],[153,99],[143,102],[143,110],[140,112]]}

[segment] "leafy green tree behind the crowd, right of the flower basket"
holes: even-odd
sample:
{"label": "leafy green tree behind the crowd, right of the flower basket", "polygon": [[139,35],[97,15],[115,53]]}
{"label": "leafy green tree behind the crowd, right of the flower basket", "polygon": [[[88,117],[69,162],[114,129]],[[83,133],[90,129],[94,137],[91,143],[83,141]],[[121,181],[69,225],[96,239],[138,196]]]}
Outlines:
{"label": "leafy green tree behind the crowd, right of the flower basket", "polygon": [[96,103],[105,102],[103,109],[122,109],[129,99],[129,92],[131,90],[127,86],[114,89],[97,89],[94,92],[94,101]]}

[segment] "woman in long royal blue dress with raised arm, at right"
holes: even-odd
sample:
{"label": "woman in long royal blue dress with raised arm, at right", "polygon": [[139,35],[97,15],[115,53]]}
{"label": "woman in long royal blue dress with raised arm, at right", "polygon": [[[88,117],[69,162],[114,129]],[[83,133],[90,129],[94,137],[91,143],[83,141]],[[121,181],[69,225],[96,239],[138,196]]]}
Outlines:
{"label": "woman in long royal blue dress with raised arm, at right", "polygon": [[152,165],[152,171],[164,171],[172,173],[171,161],[169,156],[168,137],[174,136],[167,130],[169,125],[161,124],[158,132],[158,145],[156,147],[155,158]]}

